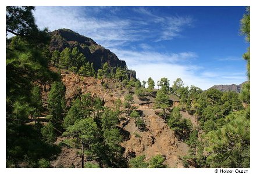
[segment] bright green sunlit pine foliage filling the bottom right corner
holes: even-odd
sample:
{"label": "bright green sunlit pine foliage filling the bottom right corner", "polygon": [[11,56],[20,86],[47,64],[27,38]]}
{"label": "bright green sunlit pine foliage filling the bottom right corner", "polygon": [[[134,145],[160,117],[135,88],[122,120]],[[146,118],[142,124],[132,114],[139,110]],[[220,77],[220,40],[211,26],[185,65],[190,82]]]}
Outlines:
{"label": "bright green sunlit pine foliage filling the bottom right corner", "polygon": [[205,137],[208,164],[212,168],[250,168],[250,119],[246,111],[237,111],[225,124]]}

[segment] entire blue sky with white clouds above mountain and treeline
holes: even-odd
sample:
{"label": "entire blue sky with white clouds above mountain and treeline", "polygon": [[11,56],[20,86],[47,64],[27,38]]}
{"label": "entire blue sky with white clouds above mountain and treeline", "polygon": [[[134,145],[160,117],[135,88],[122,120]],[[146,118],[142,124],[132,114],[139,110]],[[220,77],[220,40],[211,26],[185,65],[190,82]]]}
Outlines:
{"label": "entire blue sky with white clouds above mountain and treeline", "polygon": [[70,28],[110,49],[137,78],[208,89],[246,81],[244,6],[37,6],[38,27]]}

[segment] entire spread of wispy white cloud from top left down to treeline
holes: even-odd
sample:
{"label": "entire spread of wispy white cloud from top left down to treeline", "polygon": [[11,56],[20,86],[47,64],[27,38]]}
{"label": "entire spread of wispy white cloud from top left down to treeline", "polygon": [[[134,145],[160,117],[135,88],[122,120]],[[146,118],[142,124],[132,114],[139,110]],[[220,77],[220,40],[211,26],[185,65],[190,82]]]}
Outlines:
{"label": "entire spread of wispy white cloud from top left down to treeline", "polygon": [[[190,16],[166,16],[150,7],[133,7],[124,15],[123,7],[108,6],[38,6],[35,10],[36,23],[49,30],[69,28],[81,35],[93,38],[98,44],[111,49],[119,59],[125,60],[129,68],[136,70],[140,80],[152,77],[154,81],[166,77],[172,84],[176,78],[186,85],[208,89],[216,84],[240,84],[246,75],[208,70],[207,66],[196,66],[197,53],[160,52],[148,43],[184,37],[185,28],[193,27],[195,19]],[[123,12],[123,11],[122,11]],[[123,14],[123,16],[121,15]],[[158,46],[161,46],[159,44]],[[215,59],[236,60],[237,57]]]}

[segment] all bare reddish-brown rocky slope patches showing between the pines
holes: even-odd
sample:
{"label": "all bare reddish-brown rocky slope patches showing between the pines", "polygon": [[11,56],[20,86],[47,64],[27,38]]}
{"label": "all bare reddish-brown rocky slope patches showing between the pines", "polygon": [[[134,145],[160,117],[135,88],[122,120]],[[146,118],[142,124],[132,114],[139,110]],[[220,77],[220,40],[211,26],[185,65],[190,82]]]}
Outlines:
{"label": "all bare reddish-brown rocky slope patches showing between the pines", "polygon": [[[56,71],[54,67],[51,67],[53,71]],[[104,82],[108,84],[108,88],[104,88],[101,81],[92,77],[81,77],[77,74],[70,73],[70,71],[61,71],[62,82],[66,86],[66,101],[67,105],[70,105],[76,95],[90,92],[92,95],[101,97],[104,100],[106,107],[115,107],[114,102],[120,98],[124,101],[124,96],[128,93],[125,88],[116,88],[118,82],[113,79],[104,79]],[[51,89],[51,86],[44,86],[44,102],[47,101],[47,93]],[[124,147],[125,153],[123,156],[128,160],[134,155],[145,155],[146,160],[149,160],[154,155],[162,154],[166,158],[164,164],[170,168],[183,168],[180,157],[188,153],[189,148],[184,142],[180,142],[175,133],[164,123],[163,119],[155,114],[152,107],[140,106],[137,104],[137,97],[134,95],[134,105],[138,110],[143,112],[143,120],[145,122],[146,129],[141,132],[135,126],[135,120],[129,118],[129,124],[122,126],[122,122],[119,127],[125,132],[125,140],[121,143]],[[121,108],[124,110],[125,108]],[[159,110],[160,111],[160,110]],[[120,115],[120,118],[126,118],[126,114]],[[193,119],[193,118],[191,118]],[[123,127],[123,128],[122,128]],[[59,137],[57,144],[61,142],[63,137]],[[62,152],[59,154],[55,161],[51,162],[51,165],[55,168],[80,168],[80,157],[77,157],[76,150],[72,148],[62,147]]]}

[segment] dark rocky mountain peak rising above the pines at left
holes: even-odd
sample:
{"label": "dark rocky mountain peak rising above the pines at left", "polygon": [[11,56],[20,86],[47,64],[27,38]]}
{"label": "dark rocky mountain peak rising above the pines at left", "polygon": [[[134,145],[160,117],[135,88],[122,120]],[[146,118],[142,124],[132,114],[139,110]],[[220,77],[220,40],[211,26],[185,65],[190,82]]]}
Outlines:
{"label": "dark rocky mountain peak rising above the pines at left", "polygon": [[[98,45],[93,39],[85,37],[69,29],[59,29],[51,32],[51,42],[49,49],[51,52],[63,49],[77,47],[90,63],[94,64],[95,70],[98,70],[102,65],[108,62],[111,67],[126,68],[126,62],[119,60],[118,56],[112,53],[109,49]],[[131,72],[132,73],[132,72]],[[135,76],[135,72],[132,76]]]}

